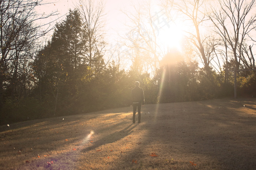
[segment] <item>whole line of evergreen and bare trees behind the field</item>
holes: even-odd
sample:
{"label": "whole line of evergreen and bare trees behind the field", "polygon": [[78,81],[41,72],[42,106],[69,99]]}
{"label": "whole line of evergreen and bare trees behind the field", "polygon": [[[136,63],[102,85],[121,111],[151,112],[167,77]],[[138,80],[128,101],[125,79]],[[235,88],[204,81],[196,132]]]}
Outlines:
{"label": "whole line of evergreen and bare trees behind the field", "polygon": [[[148,104],[230,97],[234,67],[255,69],[255,0],[164,0],[158,13],[138,4],[125,12],[127,33],[111,55],[102,2],[79,0],[43,46],[51,28],[35,21],[56,13],[38,16],[42,3],[0,1],[1,124],[129,106],[135,81]],[[175,20],[191,27],[182,50],[166,50],[157,35]],[[238,72],[238,95],[255,96],[255,79],[255,71]]]}

